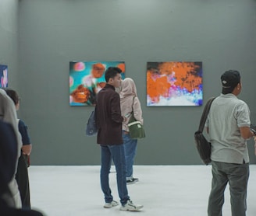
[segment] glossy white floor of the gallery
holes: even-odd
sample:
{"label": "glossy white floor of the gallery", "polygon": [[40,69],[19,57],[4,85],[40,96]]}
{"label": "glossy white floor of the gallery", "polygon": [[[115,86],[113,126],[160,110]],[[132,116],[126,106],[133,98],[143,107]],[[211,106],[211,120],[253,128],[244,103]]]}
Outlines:
{"label": "glossy white floor of the gallery", "polygon": [[[250,166],[247,216],[256,215],[256,165]],[[143,204],[140,212],[103,208],[100,166],[31,166],[30,195],[34,209],[48,216],[147,215],[205,216],[212,180],[211,165],[135,165],[140,181],[128,185],[131,200]],[[114,171],[114,169],[112,169]],[[110,173],[112,194],[119,200],[116,173]],[[229,189],[223,216],[230,216]]]}

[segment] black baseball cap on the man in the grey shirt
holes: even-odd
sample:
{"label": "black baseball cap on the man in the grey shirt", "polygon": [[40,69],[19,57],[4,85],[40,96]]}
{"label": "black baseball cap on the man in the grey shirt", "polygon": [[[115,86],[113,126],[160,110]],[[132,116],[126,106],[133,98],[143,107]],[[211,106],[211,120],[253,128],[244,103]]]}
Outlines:
{"label": "black baseball cap on the man in the grey shirt", "polygon": [[221,76],[222,88],[234,89],[240,83],[241,77],[239,71],[229,70],[224,72]]}

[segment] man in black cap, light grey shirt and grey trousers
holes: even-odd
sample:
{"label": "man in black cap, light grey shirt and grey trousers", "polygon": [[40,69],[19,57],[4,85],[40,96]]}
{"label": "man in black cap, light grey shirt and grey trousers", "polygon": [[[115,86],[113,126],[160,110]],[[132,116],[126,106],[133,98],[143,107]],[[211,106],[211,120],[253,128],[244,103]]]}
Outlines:
{"label": "man in black cap, light grey shirt and grey trousers", "polygon": [[250,130],[250,110],[236,97],[242,88],[239,71],[226,71],[221,81],[222,94],[213,101],[205,124],[212,143],[212,190],[208,216],[222,215],[227,183],[232,215],[244,216],[249,177],[247,139],[254,133]]}

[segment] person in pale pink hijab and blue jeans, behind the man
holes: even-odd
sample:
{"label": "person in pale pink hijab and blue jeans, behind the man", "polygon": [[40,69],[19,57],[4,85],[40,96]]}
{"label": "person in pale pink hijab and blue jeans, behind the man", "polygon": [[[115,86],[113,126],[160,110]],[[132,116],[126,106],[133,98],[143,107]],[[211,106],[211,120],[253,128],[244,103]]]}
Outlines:
{"label": "person in pale pink hijab and blue jeans, behind the man", "polygon": [[121,84],[120,91],[121,115],[126,117],[123,121],[123,145],[126,157],[126,183],[136,183],[137,178],[133,178],[133,162],[136,155],[137,139],[131,139],[129,135],[128,123],[133,112],[136,120],[143,124],[142,110],[140,100],[137,97],[137,89],[132,78],[125,78]]}

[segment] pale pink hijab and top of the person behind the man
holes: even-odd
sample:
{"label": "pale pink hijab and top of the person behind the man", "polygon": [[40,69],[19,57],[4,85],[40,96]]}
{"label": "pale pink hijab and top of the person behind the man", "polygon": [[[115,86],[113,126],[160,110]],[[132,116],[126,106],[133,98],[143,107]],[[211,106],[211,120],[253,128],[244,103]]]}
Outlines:
{"label": "pale pink hijab and top of the person behind the man", "polygon": [[[136,120],[140,121],[140,123],[143,124],[140,100],[137,97],[136,85],[132,78],[125,78],[122,81],[121,92],[119,94],[121,114],[123,117],[126,117],[126,121],[124,121],[122,125],[123,131],[129,131],[127,124],[130,120],[130,113],[132,111]],[[127,117],[127,115],[129,115],[129,117]]]}

